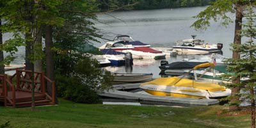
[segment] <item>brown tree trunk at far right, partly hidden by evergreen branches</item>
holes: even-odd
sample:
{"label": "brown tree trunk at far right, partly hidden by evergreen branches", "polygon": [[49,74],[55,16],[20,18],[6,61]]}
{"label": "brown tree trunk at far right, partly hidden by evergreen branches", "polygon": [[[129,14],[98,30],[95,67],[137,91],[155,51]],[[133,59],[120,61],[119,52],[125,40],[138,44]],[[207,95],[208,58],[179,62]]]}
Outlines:
{"label": "brown tree trunk at far right, partly hidden by evergreen branches", "polygon": [[[235,22],[235,35],[234,35],[234,44],[241,44],[241,29],[242,29],[242,22],[243,22],[243,8],[242,8],[242,4],[241,3],[237,3],[236,4],[236,22]],[[240,58],[240,54],[236,51],[233,51],[233,59],[239,59]],[[232,83],[239,83],[240,80],[239,79],[232,79]],[[239,100],[239,97],[237,97],[237,93],[240,92],[240,88],[239,87],[234,87],[231,89],[232,93],[231,93],[231,103],[235,103]],[[234,111],[238,109],[238,104],[237,105],[232,105],[230,106],[230,110]]]}

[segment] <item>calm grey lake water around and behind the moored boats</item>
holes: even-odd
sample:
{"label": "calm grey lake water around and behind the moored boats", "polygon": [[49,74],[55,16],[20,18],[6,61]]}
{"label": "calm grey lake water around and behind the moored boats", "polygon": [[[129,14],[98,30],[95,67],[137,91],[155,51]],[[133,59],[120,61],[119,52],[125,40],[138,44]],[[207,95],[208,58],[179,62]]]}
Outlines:
{"label": "calm grey lake water around and behind the moored boats", "polygon": [[[113,12],[108,15],[99,15],[99,21],[95,24],[100,32],[104,33],[104,38],[113,40],[117,35],[130,35],[134,40],[140,40],[152,47],[172,47],[177,40],[191,38],[197,35],[209,44],[223,44],[223,56],[231,57],[230,44],[234,40],[234,23],[227,28],[221,26],[220,22],[211,22],[211,26],[206,31],[195,31],[190,28],[195,22],[193,16],[204,10],[206,7],[195,8],[175,8],[163,10],[140,10],[128,12]],[[229,14],[235,19],[234,14]],[[101,40],[101,44],[94,44],[99,47],[106,40]],[[195,56],[177,56],[172,58],[167,56],[166,60],[176,61],[182,58],[195,58]],[[134,60],[132,68],[129,67],[107,67],[115,72],[136,72],[153,73],[154,78],[159,75],[161,60]]]}

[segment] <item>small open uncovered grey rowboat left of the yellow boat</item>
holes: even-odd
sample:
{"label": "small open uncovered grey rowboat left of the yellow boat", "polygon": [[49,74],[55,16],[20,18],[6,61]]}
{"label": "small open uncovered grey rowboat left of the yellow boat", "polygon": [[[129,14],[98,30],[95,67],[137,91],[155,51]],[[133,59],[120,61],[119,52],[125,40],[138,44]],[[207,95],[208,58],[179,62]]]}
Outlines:
{"label": "small open uncovered grey rowboat left of the yellow boat", "polygon": [[153,74],[134,74],[134,73],[120,73],[112,72],[114,76],[113,81],[124,82],[124,83],[141,83],[152,80]]}

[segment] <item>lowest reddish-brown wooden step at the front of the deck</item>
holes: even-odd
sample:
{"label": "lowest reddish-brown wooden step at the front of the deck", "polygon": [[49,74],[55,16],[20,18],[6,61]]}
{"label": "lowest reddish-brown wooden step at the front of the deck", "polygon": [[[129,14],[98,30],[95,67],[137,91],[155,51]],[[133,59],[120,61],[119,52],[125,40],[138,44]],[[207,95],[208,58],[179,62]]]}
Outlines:
{"label": "lowest reddish-brown wooden step at the front of the deck", "polygon": [[[23,108],[23,107],[31,107],[32,101],[29,102],[17,102],[15,104],[16,108]],[[35,106],[43,106],[43,105],[49,105],[51,104],[50,100],[35,100]],[[12,106],[12,104],[7,104],[8,106]]]}

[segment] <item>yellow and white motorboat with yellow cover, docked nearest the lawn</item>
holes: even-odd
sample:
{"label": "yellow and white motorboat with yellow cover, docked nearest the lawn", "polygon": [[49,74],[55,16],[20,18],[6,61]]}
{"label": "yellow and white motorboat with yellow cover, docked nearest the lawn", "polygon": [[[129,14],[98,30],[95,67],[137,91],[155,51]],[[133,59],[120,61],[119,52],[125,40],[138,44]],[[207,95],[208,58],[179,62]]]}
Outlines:
{"label": "yellow and white motorboat with yellow cover, docked nearest the lawn", "polygon": [[160,77],[140,85],[145,92],[158,96],[218,99],[231,90],[214,83],[203,83],[180,77]]}

